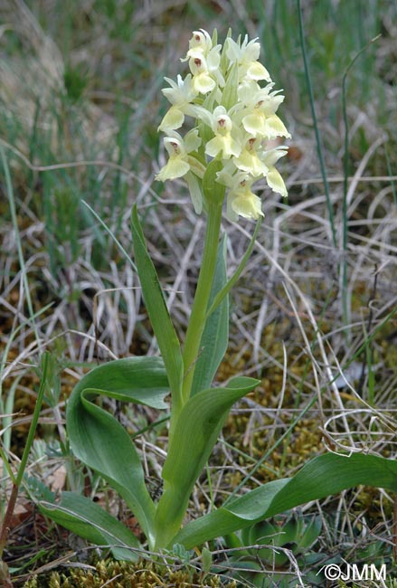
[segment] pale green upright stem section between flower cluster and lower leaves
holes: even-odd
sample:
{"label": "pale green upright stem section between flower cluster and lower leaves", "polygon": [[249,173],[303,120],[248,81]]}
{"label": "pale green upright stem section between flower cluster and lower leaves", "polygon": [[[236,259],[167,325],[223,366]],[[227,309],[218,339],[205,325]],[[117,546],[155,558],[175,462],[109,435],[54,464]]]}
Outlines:
{"label": "pale green upright stem section between flower cluster and lower leaves", "polygon": [[218,251],[219,235],[221,232],[222,204],[211,202],[208,205],[208,220],[205,232],[203,261],[200,270],[194,303],[189,319],[184,341],[184,384],[182,388],[182,402],[186,403],[190,397],[193,384],[195,362],[200,352],[200,342],[205,325],[205,315],[213,285],[216,254]]}

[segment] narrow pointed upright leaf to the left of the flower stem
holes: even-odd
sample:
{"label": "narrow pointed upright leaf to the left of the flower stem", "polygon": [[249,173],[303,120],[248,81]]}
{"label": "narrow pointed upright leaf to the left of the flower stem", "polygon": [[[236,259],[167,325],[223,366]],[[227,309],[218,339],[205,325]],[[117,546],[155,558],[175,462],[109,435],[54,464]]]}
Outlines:
{"label": "narrow pointed upright leaf to the left of the flower stem", "polygon": [[164,293],[157,277],[156,268],[147,253],[147,246],[142,227],[137,216],[137,205],[131,215],[132,240],[134,242],[135,261],[142,292],[147,307],[157,344],[163,357],[165,370],[175,403],[181,402],[181,385],[184,375],[184,363],[181,346],[175,328],[166,308]]}

